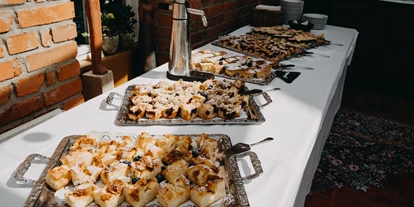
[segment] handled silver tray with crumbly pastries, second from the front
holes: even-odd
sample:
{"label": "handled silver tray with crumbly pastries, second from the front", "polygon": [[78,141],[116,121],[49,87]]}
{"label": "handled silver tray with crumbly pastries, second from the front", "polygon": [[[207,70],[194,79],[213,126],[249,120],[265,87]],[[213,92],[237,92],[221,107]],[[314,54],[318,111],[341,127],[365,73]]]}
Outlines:
{"label": "handled silver tray with crumbly pastries, second from the front", "polygon": [[[117,93],[106,99],[119,107],[119,125],[180,124],[260,124],[265,121],[260,107],[272,102],[266,92],[244,95],[248,91],[240,80],[207,80],[201,82],[161,81],[129,86],[120,106],[114,105]],[[257,105],[255,96],[266,101]]]}

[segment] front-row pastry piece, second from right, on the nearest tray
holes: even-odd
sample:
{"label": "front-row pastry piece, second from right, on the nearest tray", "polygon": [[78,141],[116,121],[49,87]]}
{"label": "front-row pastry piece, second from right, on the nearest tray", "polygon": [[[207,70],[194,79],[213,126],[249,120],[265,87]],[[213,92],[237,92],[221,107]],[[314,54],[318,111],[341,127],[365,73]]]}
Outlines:
{"label": "front-row pastry piece, second from right, on the nearest tray", "polygon": [[190,182],[181,175],[172,183],[160,183],[157,200],[163,207],[178,207],[188,201]]}

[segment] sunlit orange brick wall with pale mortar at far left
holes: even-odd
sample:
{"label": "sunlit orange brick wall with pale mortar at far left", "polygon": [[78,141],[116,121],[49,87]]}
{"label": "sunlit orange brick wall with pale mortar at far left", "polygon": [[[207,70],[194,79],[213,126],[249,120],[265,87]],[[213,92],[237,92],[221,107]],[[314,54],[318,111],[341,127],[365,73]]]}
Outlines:
{"label": "sunlit orange brick wall with pale mortar at far left", "polygon": [[73,2],[0,0],[0,134],[83,103]]}

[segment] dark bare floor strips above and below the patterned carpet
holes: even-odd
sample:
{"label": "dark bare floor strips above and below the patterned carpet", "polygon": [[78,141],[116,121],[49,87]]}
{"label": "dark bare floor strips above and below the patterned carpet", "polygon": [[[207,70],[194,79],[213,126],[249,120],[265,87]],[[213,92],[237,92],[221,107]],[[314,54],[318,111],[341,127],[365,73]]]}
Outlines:
{"label": "dark bare floor strips above and below the patterned carpet", "polygon": [[[346,84],[342,106],[414,126],[414,100],[357,89]],[[414,206],[414,173],[389,176],[383,185],[384,189],[371,187],[367,193],[351,186],[314,191],[307,197],[305,207]]]}

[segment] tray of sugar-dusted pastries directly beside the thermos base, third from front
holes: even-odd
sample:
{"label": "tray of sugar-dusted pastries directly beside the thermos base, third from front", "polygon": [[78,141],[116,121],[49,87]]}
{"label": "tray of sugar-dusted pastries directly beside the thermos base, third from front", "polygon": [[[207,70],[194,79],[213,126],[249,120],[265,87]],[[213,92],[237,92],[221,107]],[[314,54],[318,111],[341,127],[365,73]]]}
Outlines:
{"label": "tray of sugar-dusted pastries directly beside the thermos base, third from front", "polygon": [[246,55],[231,55],[225,51],[199,50],[192,53],[191,69],[233,80],[267,85],[275,77],[279,62],[270,62]]}

